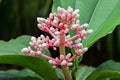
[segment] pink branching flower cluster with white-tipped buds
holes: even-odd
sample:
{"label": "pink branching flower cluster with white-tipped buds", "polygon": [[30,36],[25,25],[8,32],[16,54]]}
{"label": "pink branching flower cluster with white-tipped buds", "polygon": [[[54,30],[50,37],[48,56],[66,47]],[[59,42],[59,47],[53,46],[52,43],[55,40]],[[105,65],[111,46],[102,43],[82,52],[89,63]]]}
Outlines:
{"label": "pink branching flower cluster with white-tipped buds", "polygon": [[[22,52],[30,56],[42,56],[48,59],[53,67],[69,67],[76,57],[82,56],[88,50],[87,47],[83,46],[81,41],[86,38],[86,35],[92,33],[93,30],[85,30],[85,28],[88,27],[88,24],[80,25],[78,9],[73,11],[71,7],[68,7],[67,10],[58,7],[57,10],[57,13],[50,13],[47,19],[37,18],[38,28],[49,33],[52,36],[52,39],[50,39],[49,36],[45,37],[44,35],[40,35],[38,38],[32,37],[29,44],[36,50],[32,50],[29,46],[28,48],[23,48]],[[76,32],[74,36],[69,34],[72,30]],[[62,42],[61,36],[64,36],[64,42]],[[73,48],[75,54],[71,55],[71,53],[68,53],[67,55],[60,55],[59,58],[52,58],[42,53],[43,50],[47,50],[50,47],[53,47],[53,49],[56,50],[61,44],[65,47]]]}

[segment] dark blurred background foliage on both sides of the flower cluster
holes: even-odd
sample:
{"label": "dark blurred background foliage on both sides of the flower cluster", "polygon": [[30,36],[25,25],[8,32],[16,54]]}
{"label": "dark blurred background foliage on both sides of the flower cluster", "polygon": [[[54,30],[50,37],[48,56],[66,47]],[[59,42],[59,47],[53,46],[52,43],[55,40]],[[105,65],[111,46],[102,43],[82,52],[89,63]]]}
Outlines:
{"label": "dark blurred background foliage on both sides of the flower cluster", "polygon": [[[37,16],[47,17],[52,0],[0,0],[0,39],[9,40],[20,35],[39,36]],[[114,59],[120,61],[120,26],[112,34],[97,41],[84,55],[82,63],[98,66]]]}

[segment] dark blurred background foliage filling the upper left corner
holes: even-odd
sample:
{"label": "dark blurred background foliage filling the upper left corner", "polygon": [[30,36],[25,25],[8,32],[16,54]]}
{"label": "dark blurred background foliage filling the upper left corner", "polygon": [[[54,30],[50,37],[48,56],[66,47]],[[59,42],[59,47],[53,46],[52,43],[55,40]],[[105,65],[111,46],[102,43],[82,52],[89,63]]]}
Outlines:
{"label": "dark blurred background foliage filling the upper left corner", "polygon": [[52,0],[3,0],[0,4],[0,39],[38,35],[36,17],[47,17]]}

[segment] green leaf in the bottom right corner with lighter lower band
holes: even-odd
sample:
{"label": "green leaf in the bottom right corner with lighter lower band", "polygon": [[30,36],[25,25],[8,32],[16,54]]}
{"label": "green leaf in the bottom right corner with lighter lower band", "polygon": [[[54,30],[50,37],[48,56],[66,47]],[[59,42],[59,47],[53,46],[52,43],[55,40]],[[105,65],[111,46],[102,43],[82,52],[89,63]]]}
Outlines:
{"label": "green leaf in the bottom right corner with lighter lower band", "polygon": [[109,60],[93,71],[87,80],[120,79],[120,62]]}

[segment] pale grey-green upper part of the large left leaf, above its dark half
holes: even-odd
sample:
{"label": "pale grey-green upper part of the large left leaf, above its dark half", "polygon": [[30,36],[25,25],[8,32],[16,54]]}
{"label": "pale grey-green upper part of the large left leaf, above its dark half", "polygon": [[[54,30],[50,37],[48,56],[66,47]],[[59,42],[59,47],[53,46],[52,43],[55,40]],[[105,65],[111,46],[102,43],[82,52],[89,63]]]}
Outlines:
{"label": "pale grey-green upper part of the large left leaf, above its dark half", "polygon": [[[17,39],[12,39],[8,42],[0,41],[0,55],[1,53],[9,53],[9,54],[23,54],[21,49],[29,46],[29,42],[31,40],[31,36],[21,36]],[[8,54],[7,54],[8,55]]]}

